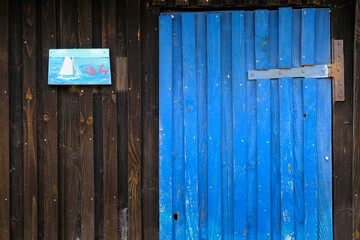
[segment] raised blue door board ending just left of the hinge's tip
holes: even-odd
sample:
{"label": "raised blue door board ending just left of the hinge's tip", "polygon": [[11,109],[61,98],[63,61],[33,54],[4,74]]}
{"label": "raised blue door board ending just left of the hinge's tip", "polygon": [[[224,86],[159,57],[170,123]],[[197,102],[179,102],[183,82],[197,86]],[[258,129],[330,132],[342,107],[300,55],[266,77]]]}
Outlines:
{"label": "raised blue door board ending just left of the hinge's tip", "polygon": [[232,102],[234,158],[234,239],[247,239],[246,71],[244,12],[232,13]]}

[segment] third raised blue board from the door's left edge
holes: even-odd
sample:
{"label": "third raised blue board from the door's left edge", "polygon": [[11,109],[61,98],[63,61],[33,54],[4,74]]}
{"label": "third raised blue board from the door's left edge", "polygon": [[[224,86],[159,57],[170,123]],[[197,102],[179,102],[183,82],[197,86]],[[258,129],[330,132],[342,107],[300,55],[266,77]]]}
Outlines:
{"label": "third raised blue board from the door's left edge", "polygon": [[208,237],[221,239],[220,14],[207,16],[208,47]]}

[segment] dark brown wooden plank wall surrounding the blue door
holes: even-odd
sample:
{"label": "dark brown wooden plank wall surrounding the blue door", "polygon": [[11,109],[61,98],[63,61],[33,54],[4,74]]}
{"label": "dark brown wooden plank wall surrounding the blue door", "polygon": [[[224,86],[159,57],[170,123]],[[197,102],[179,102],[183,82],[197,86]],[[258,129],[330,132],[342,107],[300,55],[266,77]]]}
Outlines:
{"label": "dark brown wooden plank wall surrounding the blue door", "polygon": [[[344,39],[334,236],[359,239],[360,18],[353,94],[355,1],[345,0],[3,0],[0,239],[157,239],[159,14],[279,6],[330,7],[332,37]],[[101,47],[112,86],[47,84],[50,48]]]}

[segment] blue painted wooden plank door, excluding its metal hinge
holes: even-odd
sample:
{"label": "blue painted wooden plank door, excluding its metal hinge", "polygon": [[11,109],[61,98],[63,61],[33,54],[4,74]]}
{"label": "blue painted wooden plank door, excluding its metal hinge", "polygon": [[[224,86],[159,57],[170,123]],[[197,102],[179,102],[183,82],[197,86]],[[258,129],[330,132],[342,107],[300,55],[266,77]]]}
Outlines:
{"label": "blue painted wooden plank door, excluding its metal hinge", "polygon": [[333,239],[329,9],[160,16],[160,239]]}

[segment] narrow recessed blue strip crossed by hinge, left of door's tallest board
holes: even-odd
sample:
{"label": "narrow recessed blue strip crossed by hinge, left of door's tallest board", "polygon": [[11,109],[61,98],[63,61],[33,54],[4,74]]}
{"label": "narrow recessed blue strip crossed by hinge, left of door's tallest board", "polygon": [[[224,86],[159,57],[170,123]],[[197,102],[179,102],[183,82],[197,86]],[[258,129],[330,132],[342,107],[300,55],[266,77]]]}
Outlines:
{"label": "narrow recessed blue strip crossed by hinge, left of door's tallest board", "polygon": [[[278,11],[269,12],[269,67],[278,68]],[[270,81],[271,94],[271,239],[280,240],[280,121],[279,121],[279,79]]]}

